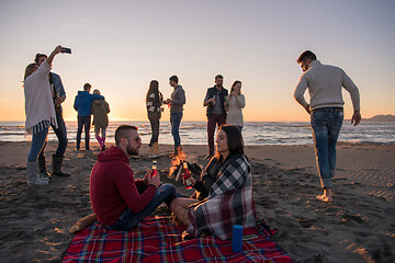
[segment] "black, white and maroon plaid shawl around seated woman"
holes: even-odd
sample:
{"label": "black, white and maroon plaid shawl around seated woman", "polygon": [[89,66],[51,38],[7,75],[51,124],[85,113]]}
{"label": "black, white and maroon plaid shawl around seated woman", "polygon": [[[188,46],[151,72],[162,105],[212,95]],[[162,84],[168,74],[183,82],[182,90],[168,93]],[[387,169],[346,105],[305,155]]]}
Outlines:
{"label": "black, white and maroon plaid shawl around seated woman", "polygon": [[234,225],[253,227],[257,214],[252,196],[251,167],[240,156],[219,174],[208,197],[189,208],[190,227],[185,239],[199,237],[208,230],[222,240],[233,233]]}

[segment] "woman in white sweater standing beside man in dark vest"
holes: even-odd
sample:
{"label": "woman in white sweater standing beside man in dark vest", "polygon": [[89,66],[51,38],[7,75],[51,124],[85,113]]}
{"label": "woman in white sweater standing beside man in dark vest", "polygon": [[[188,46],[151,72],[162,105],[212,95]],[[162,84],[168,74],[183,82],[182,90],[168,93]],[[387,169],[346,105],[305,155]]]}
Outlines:
{"label": "woman in white sweater standing beside man in dark vest", "polygon": [[246,106],[246,99],[241,94],[241,81],[236,80],[230,89],[230,94],[225,101],[225,110],[227,111],[226,124],[237,126],[242,130],[242,108]]}

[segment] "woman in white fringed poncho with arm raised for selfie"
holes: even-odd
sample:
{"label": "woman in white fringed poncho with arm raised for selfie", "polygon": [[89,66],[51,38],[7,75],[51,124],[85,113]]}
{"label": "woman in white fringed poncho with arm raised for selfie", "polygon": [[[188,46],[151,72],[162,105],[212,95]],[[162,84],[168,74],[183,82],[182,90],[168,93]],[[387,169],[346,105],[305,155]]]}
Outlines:
{"label": "woman in white fringed poncho with arm raised for selfie", "polygon": [[34,62],[25,69],[23,85],[26,114],[25,129],[33,135],[26,163],[27,186],[46,185],[49,182],[48,178],[40,176],[37,158],[47,139],[49,125],[58,128],[53,100],[54,91],[49,85],[49,70],[54,57],[60,52],[61,46],[57,46],[40,67]]}

